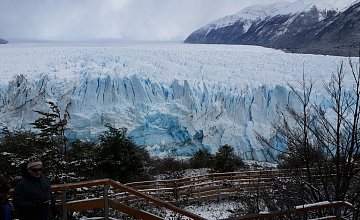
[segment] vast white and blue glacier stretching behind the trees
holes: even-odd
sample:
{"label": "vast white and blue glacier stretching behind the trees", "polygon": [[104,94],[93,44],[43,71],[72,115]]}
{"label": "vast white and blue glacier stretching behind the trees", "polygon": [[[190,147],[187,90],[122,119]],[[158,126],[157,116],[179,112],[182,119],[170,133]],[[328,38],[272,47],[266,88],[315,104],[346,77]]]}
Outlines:
{"label": "vast white and blue glacier stretching behind the trees", "polygon": [[[0,46],[0,123],[31,129],[48,101],[69,114],[70,139],[125,127],[152,155],[215,153],[272,161],[256,132],[272,134],[277,111],[299,108],[288,84],[302,73],[318,97],[344,57],[244,45],[41,43]],[[350,85],[350,79],[347,79]]]}

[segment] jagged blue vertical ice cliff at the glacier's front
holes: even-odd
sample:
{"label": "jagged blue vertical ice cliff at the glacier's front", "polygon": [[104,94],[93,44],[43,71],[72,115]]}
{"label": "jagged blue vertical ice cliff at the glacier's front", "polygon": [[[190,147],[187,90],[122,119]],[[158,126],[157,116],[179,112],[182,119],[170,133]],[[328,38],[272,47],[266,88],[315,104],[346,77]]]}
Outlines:
{"label": "jagged blue vertical ice cliff at the glacier's front", "polygon": [[70,138],[96,138],[109,124],[128,128],[154,155],[191,155],[202,147],[216,152],[230,144],[244,159],[260,161],[271,159],[255,132],[269,135],[277,110],[297,105],[283,86],[239,89],[187,80],[165,85],[136,75],[61,82],[18,76],[1,87],[3,126],[30,128],[39,117],[34,110],[49,110],[47,101],[69,113]]}

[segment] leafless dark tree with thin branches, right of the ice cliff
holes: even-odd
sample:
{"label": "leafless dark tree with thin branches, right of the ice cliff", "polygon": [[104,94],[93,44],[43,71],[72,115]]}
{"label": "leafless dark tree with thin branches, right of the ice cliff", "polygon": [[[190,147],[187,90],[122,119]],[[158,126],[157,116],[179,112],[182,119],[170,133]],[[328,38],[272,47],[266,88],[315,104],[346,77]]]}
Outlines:
{"label": "leafless dark tree with thin branches, right of the ice cliff", "polygon": [[346,200],[359,207],[359,63],[355,65],[349,59],[351,87],[345,85],[344,64],[340,64],[324,86],[326,107],[312,102],[313,85],[307,83],[304,74],[300,91],[290,86],[300,100],[301,110],[288,107],[279,112],[282,121],[273,125],[285,149],[277,149],[269,139],[258,135],[263,144],[281,150],[280,166],[305,170],[304,202]]}

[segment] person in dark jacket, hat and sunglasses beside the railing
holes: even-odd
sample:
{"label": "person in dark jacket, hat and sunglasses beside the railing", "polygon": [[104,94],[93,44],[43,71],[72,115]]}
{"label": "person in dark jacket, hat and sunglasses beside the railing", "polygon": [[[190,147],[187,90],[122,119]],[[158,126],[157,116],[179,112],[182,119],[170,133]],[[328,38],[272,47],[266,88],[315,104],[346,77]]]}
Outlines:
{"label": "person in dark jacket, hat and sunglasses beside the railing", "polygon": [[42,174],[42,163],[36,157],[22,168],[23,178],[15,186],[13,205],[20,220],[47,220],[52,203],[50,180]]}

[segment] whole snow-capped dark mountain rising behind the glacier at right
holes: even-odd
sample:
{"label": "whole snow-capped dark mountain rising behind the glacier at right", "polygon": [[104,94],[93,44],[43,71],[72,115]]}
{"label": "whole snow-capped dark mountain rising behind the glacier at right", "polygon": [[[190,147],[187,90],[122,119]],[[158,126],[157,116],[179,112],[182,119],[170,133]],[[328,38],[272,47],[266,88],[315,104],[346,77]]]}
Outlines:
{"label": "whole snow-capped dark mountain rising behind the glacier at right", "polygon": [[292,52],[358,53],[360,2],[298,0],[254,5],[194,31],[185,43],[245,44]]}

